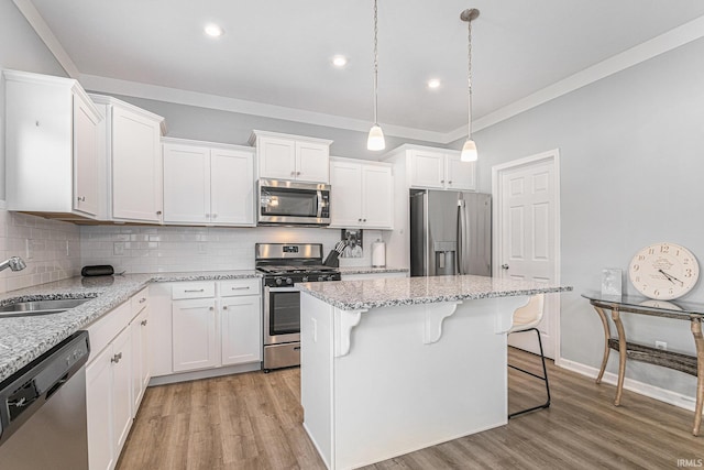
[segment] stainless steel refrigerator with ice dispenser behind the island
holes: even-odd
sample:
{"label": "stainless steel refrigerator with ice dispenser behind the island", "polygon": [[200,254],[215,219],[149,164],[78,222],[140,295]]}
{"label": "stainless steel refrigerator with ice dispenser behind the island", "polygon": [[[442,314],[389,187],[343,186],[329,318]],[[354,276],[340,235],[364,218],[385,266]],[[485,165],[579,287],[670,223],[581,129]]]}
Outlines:
{"label": "stainless steel refrigerator with ice dispenser behind the island", "polygon": [[410,275],[492,275],[492,196],[410,190]]}

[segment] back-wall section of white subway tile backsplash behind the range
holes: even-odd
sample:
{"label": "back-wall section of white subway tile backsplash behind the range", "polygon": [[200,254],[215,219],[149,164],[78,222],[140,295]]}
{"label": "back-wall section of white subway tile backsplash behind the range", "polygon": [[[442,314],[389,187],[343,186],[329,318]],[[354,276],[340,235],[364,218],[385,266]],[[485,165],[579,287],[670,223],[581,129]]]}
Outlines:
{"label": "back-wall section of white subway tile backsplash behind the range", "polygon": [[[340,240],[338,229],[278,227],[85,226],[80,234],[84,265],[111,264],[128,273],[251,270],[255,243],[322,243],[324,258]],[[364,237],[371,247],[381,232]],[[364,258],[341,265],[371,265],[370,253],[365,249]]]}

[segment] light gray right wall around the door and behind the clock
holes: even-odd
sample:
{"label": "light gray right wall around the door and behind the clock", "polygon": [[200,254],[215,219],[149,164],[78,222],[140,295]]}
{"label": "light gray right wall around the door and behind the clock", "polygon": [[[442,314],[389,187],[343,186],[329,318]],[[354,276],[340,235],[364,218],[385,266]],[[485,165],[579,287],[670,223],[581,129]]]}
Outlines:
{"label": "light gray right wall around the door and behind the clock", "polygon": [[[580,294],[600,289],[603,267],[626,273],[638,249],[660,241],[688,247],[704,267],[702,57],[698,40],[474,134],[482,192],[493,165],[560,150],[562,282],[574,286],[562,295],[564,359],[601,364],[602,326]],[[624,286],[636,293],[627,276]],[[686,299],[704,302],[704,276]],[[624,317],[630,339],[694,352],[689,321]],[[694,395],[694,378],[679,372],[629,362],[627,376]]]}

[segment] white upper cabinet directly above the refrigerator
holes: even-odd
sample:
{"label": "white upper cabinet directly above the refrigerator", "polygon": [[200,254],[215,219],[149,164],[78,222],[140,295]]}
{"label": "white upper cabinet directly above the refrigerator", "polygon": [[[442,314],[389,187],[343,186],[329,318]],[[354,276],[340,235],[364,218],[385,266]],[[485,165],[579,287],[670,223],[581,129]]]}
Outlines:
{"label": "white upper cabinet directly above the refrigerator", "polygon": [[413,146],[406,151],[411,187],[475,190],[475,164],[460,161],[460,152]]}

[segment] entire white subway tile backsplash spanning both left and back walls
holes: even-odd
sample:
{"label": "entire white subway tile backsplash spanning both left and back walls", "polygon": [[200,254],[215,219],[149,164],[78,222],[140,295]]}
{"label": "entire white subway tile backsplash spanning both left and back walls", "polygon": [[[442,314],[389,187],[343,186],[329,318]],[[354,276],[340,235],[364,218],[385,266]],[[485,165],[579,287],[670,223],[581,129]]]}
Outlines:
{"label": "entire white subway tile backsplash spanning both left and back walls", "polygon": [[[0,208],[0,261],[20,256],[26,269],[0,272],[0,294],[80,275],[111,264],[116,272],[156,273],[252,270],[254,243],[322,243],[323,258],[340,241],[339,229],[76,226]],[[341,266],[371,265],[378,230],[364,231],[364,258]]]}

